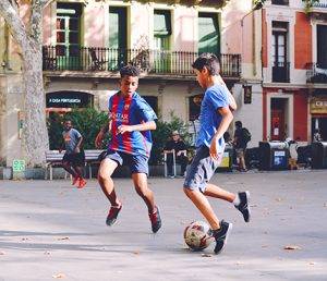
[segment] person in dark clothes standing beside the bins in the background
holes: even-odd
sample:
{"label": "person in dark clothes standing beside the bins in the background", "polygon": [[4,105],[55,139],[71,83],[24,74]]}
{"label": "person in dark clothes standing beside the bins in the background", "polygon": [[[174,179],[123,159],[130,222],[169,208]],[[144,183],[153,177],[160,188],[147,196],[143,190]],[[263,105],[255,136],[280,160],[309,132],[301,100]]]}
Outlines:
{"label": "person in dark clothes standing beside the bins in the background", "polygon": [[234,149],[237,152],[237,160],[239,163],[239,171],[246,172],[246,164],[245,164],[245,151],[247,147],[247,143],[251,139],[251,134],[246,127],[243,127],[241,121],[235,122],[235,132],[234,132]]}

